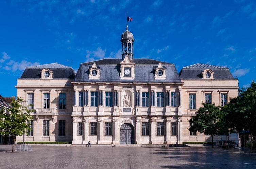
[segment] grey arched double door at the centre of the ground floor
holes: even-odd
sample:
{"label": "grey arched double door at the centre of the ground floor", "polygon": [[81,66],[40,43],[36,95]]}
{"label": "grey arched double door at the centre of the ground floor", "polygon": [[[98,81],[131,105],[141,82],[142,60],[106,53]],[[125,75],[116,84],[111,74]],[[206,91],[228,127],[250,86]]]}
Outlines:
{"label": "grey arched double door at the centre of the ground floor", "polygon": [[134,144],[134,128],[130,123],[124,123],[120,128],[120,144]]}

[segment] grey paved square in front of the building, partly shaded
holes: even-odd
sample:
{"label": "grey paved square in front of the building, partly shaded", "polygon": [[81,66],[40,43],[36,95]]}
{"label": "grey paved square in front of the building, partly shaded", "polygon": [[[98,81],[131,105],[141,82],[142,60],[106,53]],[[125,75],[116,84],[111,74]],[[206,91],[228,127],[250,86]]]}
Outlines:
{"label": "grey paved square in front of the building, partly shaded", "polygon": [[33,145],[33,151],[11,150],[12,145],[0,145],[1,169],[256,168],[256,153],[248,148]]}

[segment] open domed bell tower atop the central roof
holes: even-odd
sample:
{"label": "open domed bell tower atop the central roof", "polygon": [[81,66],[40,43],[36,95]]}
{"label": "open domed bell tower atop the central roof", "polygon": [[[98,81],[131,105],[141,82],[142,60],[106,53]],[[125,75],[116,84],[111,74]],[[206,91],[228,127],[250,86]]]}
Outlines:
{"label": "open domed bell tower atop the central roof", "polygon": [[127,55],[132,60],[134,38],[132,32],[128,31],[128,24],[126,24],[126,31],[123,32],[120,41],[122,42],[122,59]]}

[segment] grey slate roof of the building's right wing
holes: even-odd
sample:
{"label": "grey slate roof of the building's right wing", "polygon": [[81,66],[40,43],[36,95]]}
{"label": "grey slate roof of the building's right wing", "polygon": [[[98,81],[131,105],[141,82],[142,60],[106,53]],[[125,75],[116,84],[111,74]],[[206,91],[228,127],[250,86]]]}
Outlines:
{"label": "grey slate roof of the building's right wing", "polygon": [[234,79],[227,67],[200,63],[182,68],[179,75],[181,79],[201,79],[203,78],[202,72],[205,69],[210,69],[214,72],[214,79]]}

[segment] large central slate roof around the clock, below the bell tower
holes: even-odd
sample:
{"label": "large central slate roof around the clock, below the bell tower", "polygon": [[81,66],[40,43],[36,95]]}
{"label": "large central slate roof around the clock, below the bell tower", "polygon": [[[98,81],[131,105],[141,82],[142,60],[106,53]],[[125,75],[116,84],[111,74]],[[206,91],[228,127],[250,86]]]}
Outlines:
{"label": "large central slate roof around the clock, below the bell tower", "polygon": [[[135,63],[134,80],[120,79],[120,62],[123,59],[101,59],[98,61],[80,64],[78,72],[74,78],[76,82],[102,81],[102,82],[181,82],[174,64],[157,61],[154,59],[133,59]],[[154,68],[161,62],[166,69],[165,80],[155,80]],[[89,68],[95,63],[100,68],[100,79],[89,79]]]}

